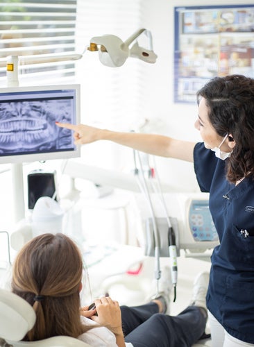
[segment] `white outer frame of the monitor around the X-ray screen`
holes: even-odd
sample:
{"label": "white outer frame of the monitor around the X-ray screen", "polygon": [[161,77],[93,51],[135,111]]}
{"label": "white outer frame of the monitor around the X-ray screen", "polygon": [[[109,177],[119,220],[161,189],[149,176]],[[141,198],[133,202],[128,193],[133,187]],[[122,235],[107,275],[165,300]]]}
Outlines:
{"label": "white outer frame of the monitor around the X-ray screen", "polygon": [[[56,90],[74,90],[75,91],[75,109],[76,119],[74,124],[79,124],[81,121],[81,85],[79,84],[59,84],[59,85],[30,85],[22,87],[4,87],[0,88],[0,94],[10,94],[17,92],[49,92]],[[13,155],[1,155],[0,164],[16,164],[22,162],[46,162],[48,160],[77,158],[81,156],[80,146],[74,144],[74,150],[68,151],[52,151],[41,153],[22,153]]]}

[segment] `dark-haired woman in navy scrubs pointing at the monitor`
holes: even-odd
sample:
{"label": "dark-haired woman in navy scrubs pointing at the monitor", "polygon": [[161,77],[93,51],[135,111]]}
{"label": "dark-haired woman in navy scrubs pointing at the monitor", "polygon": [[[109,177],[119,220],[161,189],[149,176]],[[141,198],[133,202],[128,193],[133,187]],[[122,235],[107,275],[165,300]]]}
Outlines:
{"label": "dark-haired woman in navy scrubs pointing at the monitor", "polygon": [[207,306],[213,347],[254,346],[254,79],[215,77],[197,92],[195,127],[203,142],[117,133],[85,125],[76,144],[110,140],[139,151],[194,162],[220,244],[212,253]]}

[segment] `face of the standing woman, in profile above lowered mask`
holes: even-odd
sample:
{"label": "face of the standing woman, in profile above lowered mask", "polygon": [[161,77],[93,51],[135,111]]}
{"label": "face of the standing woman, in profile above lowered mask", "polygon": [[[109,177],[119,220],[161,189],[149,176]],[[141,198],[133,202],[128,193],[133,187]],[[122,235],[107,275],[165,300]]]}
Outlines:
{"label": "face of the standing woman, in profile above lowered mask", "polygon": [[[200,132],[205,148],[213,149],[221,144],[223,137],[217,134],[216,130],[210,123],[208,117],[208,106],[205,104],[205,99],[202,98],[198,105],[198,119],[195,121],[195,128]],[[228,151],[228,146],[221,145],[221,151]]]}

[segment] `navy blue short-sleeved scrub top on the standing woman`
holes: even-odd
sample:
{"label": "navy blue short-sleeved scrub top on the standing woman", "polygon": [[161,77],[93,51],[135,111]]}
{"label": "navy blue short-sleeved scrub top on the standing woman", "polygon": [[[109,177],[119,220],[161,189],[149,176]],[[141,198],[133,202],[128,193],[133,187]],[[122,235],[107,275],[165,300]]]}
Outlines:
{"label": "navy blue short-sleeved scrub top on the standing woman", "polygon": [[226,180],[226,162],[194,148],[201,192],[210,192],[210,212],[219,235],[212,253],[208,310],[233,337],[254,344],[254,180]]}

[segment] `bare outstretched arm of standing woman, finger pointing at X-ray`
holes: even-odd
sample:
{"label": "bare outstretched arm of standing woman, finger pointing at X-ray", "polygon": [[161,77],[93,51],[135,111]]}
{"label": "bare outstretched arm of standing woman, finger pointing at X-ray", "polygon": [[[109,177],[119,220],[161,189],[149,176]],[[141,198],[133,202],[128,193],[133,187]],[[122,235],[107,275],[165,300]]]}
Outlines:
{"label": "bare outstretched arm of standing woman, finger pointing at X-ray", "polygon": [[84,124],[56,123],[56,125],[74,130],[75,144],[90,144],[104,139],[145,153],[193,162],[194,142],[181,141],[164,135],[119,133]]}

